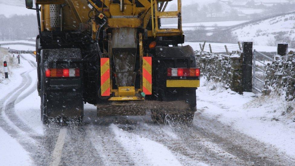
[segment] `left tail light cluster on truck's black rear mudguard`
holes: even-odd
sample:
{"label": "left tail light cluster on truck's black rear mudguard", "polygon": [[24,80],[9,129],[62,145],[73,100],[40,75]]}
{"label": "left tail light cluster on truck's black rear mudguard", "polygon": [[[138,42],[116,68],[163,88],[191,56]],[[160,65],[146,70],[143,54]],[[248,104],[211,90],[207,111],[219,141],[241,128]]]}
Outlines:
{"label": "left tail light cluster on truck's black rear mudguard", "polygon": [[46,69],[45,70],[46,77],[79,77],[80,69],[79,68],[65,68],[65,69]]}

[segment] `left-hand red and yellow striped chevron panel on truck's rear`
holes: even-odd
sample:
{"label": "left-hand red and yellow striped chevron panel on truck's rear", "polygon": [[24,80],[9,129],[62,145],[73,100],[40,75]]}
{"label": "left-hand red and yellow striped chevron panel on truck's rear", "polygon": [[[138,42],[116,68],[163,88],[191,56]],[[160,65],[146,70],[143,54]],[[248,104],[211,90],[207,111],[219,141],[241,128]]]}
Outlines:
{"label": "left-hand red and yellow striped chevron panel on truck's rear", "polygon": [[100,86],[101,95],[110,96],[110,58],[100,58]]}

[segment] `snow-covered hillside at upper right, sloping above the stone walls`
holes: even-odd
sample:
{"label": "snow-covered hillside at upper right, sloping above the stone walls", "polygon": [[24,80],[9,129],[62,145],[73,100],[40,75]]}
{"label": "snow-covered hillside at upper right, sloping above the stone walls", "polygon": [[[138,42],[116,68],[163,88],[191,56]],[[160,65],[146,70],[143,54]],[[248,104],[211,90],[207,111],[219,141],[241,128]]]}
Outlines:
{"label": "snow-covered hillside at upper right, sloping above the stone walls", "polygon": [[295,15],[287,14],[247,24],[233,30],[240,41],[254,41],[259,45],[274,45],[295,39]]}

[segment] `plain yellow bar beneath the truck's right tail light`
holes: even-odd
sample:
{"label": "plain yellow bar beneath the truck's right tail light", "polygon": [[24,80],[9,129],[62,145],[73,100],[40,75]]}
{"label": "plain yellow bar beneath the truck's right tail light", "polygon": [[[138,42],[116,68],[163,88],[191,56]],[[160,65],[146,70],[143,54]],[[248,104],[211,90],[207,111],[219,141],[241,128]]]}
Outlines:
{"label": "plain yellow bar beneath the truck's right tail light", "polygon": [[167,80],[167,87],[196,88],[200,87],[200,80]]}

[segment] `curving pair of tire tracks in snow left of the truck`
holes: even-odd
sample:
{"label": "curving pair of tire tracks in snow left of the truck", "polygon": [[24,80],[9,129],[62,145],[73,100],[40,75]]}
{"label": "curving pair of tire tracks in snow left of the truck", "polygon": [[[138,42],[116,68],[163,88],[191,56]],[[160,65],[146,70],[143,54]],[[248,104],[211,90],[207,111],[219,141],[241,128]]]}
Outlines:
{"label": "curving pair of tire tracks in snow left of the truck", "polygon": [[[21,56],[21,58],[23,58]],[[24,59],[25,60],[25,59]],[[25,63],[29,63],[25,62]],[[33,64],[32,62],[29,64]],[[31,67],[34,67],[31,66]],[[25,124],[21,123],[21,119],[15,114],[14,106],[16,100],[19,98],[19,95],[25,90],[25,87],[28,87],[32,81],[30,78],[29,73],[34,69],[25,69],[26,72],[20,74],[22,81],[21,84],[16,87],[15,89],[11,90],[2,100],[0,100],[0,127],[7,132],[11,137],[15,138],[18,143],[29,152],[29,155],[34,160],[36,165],[48,165],[47,156],[49,154],[47,146],[42,144],[42,141],[47,140],[39,135],[35,135],[36,133],[31,130],[31,128],[27,127]],[[32,93],[32,90],[29,90],[27,93],[22,95],[28,96]],[[19,100],[21,101],[21,100]],[[52,138],[49,138],[51,141]],[[48,142],[50,142],[48,141]],[[48,144],[48,143],[47,143]]]}

